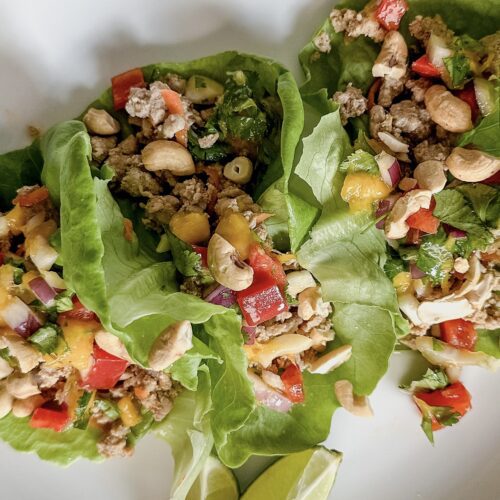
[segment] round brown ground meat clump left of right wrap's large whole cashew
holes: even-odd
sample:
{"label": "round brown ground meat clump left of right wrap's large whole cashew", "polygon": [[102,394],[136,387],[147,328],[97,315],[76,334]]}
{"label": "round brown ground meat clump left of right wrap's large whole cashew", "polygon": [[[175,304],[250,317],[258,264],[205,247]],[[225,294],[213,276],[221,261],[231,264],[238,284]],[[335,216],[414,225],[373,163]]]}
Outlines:
{"label": "round brown ground meat clump left of right wrap's large whole cashew", "polygon": [[396,133],[407,134],[411,139],[423,140],[432,132],[429,112],[410,100],[391,106],[392,126]]}

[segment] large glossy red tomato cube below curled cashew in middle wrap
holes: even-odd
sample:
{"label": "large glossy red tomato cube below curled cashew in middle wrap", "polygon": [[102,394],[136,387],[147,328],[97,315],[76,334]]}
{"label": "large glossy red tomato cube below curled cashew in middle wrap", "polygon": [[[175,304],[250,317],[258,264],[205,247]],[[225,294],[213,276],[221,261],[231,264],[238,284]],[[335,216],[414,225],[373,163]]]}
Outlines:
{"label": "large glossy red tomato cube below curled cashew in middle wrap", "polygon": [[236,299],[248,326],[255,326],[287,310],[276,280],[263,271],[254,272],[253,283],[240,292]]}

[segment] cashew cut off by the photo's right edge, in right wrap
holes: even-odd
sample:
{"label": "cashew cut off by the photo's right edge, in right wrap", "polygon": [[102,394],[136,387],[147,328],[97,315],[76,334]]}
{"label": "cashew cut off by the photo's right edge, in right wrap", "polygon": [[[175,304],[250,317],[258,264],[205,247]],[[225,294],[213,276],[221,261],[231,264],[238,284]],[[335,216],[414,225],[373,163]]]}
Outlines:
{"label": "cashew cut off by the photo's right edge, in right wrap", "polygon": [[481,182],[500,171],[500,159],[477,149],[454,148],[446,158],[453,177],[464,182]]}

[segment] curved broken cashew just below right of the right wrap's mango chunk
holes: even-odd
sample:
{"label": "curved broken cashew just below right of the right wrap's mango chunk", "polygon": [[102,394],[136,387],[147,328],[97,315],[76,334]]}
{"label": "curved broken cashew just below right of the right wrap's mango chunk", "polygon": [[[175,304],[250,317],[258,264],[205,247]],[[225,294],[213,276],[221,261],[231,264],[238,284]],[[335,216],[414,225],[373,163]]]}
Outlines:
{"label": "curved broken cashew just below right of the right wrap's mango chunk", "polygon": [[432,193],[427,189],[414,189],[408,191],[399,198],[385,223],[385,235],[391,240],[404,238],[410,226],[406,219],[410,215],[417,213],[421,208],[429,208],[431,204]]}

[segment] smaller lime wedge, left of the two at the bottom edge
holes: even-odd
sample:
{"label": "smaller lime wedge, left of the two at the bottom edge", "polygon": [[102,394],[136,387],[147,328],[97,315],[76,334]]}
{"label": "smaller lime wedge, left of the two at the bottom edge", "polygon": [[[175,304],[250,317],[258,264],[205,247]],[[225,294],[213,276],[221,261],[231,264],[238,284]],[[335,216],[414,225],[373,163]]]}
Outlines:
{"label": "smaller lime wedge, left of the two at the bottom edge", "polygon": [[208,457],[186,500],[237,500],[240,497],[234,474],[215,457]]}

